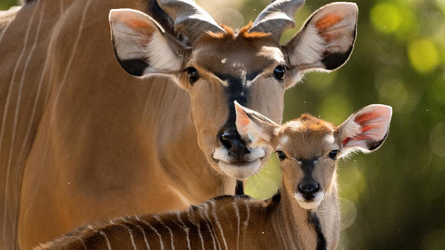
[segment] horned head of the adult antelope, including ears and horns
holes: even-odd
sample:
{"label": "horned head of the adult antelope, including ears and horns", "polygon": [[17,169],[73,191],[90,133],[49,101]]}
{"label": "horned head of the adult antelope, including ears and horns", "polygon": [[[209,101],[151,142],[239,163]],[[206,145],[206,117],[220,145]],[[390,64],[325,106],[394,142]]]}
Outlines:
{"label": "horned head of the adult antelope, including ears and horns", "polygon": [[236,32],[192,0],[158,3],[188,42],[178,42],[143,12],[111,10],[115,55],[133,76],[169,76],[188,91],[200,149],[214,169],[232,178],[251,176],[270,156],[268,147],[250,147],[236,131],[234,101],[280,123],[285,90],[307,71],[341,67],[355,41],[355,3],[322,7],[284,45],[280,37],[295,26],[304,0],[273,1]]}

